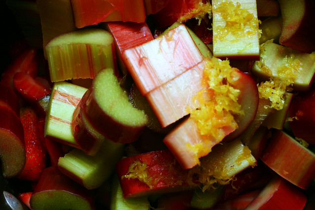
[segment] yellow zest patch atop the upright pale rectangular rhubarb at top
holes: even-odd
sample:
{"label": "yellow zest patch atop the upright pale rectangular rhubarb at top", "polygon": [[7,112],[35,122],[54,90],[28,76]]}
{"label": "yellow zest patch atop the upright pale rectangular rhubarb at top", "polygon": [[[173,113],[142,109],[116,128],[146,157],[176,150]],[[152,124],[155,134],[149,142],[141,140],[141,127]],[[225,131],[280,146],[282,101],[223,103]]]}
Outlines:
{"label": "yellow zest patch atop the upright pale rectangular rhubarb at top", "polygon": [[261,21],[247,9],[242,8],[240,2],[234,4],[232,1],[223,0],[219,5],[213,7],[213,11],[220,13],[225,22],[225,26],[218,28],[220,40],[224,40],[228,34],[232,34],[236,38],[235,41],[244,38],[244,33],[247,37],[257,33],[261,34],[258,27]]}

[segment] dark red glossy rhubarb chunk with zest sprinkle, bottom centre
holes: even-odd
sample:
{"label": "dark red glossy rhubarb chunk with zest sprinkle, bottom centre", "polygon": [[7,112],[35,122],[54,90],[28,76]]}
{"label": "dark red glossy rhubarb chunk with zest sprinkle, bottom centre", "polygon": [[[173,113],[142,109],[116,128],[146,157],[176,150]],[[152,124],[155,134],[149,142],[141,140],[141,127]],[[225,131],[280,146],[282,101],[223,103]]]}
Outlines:
{"label": "dark red glossy rhubarb chunk with zest sprinkle, bottom centre", "polygon": [[[124,178],[128,173],[130,164],[135,161],[146,162],[148,178],[151,177],[153,179],[152,187],[138,179]],[[170,170],[171,168],[172,170]],[[117,162],[116,171],[125,198],[178,192],[193,188],[189,186],[185,179],[183,180],[188,175],[188,171],[182,169],[176,163],[174,156],[169,150],[158,150],[126,157]],[[196,187],[197,185],[194,186],[194,188]]]}

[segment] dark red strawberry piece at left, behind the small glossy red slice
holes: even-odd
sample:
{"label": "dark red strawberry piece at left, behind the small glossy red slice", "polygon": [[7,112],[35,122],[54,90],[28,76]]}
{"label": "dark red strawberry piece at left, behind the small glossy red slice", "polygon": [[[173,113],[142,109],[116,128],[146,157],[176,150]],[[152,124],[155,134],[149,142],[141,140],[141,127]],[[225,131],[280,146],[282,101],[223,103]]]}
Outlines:
{"label": "dark red strawberry piece at left, behind the small glossy red slice", "polygon": [[15,73],[24,71],[28,72],[32,76],[35,76],[37,74],[38,69],[34,68],[35,64],[32,62],[36,56],[36,53],[37,53],[36,48],[27,47],[17,58],[12,60],[11,63],[7,66],[7,68],[4,70],[1,77],[1,82],[14,89],[13,76],[15,75]]}

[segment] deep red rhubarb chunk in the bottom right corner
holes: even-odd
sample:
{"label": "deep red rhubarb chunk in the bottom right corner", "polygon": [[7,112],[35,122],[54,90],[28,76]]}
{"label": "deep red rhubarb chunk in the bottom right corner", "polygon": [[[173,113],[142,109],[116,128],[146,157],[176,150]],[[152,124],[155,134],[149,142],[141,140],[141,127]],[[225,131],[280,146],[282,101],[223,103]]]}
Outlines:
{"label": "deep red rhubarb chunk in the bottom right corner", "polygon": [[306,195],[287,180],[271,180],[245,210],[303,210]]}

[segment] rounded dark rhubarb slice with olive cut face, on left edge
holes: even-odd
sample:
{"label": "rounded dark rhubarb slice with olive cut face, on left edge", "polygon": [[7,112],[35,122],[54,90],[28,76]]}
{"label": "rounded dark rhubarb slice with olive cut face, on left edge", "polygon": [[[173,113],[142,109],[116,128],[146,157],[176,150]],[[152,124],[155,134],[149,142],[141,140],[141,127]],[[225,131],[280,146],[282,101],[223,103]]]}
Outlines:
{"label": "rounded dark rhubarb slice with olive cut face, on left edge", "polygon": [[4,178],[17,176],[26,162],[24,130],[15,112],[0,106],[0,159]]}

